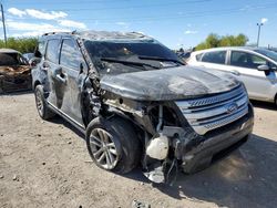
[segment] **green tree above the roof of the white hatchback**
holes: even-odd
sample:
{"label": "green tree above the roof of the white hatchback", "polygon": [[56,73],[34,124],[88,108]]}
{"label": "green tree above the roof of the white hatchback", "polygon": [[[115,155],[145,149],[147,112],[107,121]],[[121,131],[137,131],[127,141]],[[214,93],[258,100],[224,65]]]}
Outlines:
{"label": "green tree above the roof of the white hatchback", "polygon": [[209,34],[206,40],[196,46],[196,50],[211,49],[217,46],[243,46],[248,42],[245,34],[219,37],[215,33]]}

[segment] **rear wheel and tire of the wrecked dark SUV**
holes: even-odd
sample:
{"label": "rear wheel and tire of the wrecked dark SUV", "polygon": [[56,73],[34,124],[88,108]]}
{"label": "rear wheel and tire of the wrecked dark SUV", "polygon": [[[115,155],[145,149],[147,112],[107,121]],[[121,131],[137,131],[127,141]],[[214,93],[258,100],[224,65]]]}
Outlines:
{"label": "rear wheel and tire of the wrecked dark SUV", "polygon": [[42,119],[50,119],[55,116],[55,114],[47,105],[42,85],[35,86],[34,97],[35,97],[35,106],[37,106],[38,113]]}

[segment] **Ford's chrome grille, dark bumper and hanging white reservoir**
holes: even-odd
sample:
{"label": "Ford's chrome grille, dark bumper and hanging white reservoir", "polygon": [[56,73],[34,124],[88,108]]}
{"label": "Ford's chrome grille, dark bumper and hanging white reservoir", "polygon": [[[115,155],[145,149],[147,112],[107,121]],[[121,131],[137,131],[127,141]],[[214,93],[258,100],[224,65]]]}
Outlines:
{"label": "Ford's chrome grille, dark bumper and hanging white reservoir", "polygon": [[243,85],[213,96],[176,101],[173,108],[179,126],[162,125],[167,117],[162,108],[144,164],[145,175],[155,183],[168,181],[179,166],[187,174],[207,167],[217,154],[243,144],[253,131],[254,112]]}

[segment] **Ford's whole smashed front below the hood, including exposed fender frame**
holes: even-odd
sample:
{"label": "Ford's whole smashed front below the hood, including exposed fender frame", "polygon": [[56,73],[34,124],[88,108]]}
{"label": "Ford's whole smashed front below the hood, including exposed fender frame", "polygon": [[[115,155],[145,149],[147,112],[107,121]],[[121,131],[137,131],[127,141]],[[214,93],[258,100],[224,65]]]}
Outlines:
{"label": "Ford's whole smashed front below the hood, including exposed fender frame", "polygon": [[168,183],[179,167],[207,167],[216,154],[246,141],[254,125],[243,84],[199,98],[137,102],[107,93],[103,102],[141,128],[144,175],[154,183]]}

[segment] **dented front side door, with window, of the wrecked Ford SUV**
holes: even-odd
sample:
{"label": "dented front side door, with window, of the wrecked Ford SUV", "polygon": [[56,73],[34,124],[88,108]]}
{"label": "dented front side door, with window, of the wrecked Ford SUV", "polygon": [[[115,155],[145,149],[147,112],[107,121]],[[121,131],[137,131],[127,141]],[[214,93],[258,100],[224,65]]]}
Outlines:
{"label": "dented front side door, with window, of the wrecked Ford SUV", "polygon": [[88,67],[75,40],[62,40],[60,66],[61,81],[64,83],[61,111],[80,126],[84,126],[81,113],[81,90]]}

